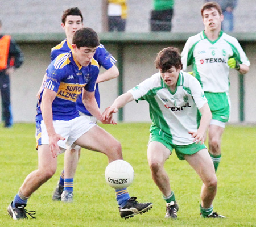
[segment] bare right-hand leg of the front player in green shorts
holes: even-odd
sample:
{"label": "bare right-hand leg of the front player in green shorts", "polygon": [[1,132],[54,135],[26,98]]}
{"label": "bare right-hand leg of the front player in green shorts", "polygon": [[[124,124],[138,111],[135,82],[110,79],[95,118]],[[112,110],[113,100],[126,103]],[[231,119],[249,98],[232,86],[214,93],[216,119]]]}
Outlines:
{"label": "bare right-hand leg of the front player in green shorts", "polygon": [[217,193],[217,177],[207,149],[200,150],[193,155],[185,155],[185,159],[203,181],[201,206],[203,208],[210,208]]}

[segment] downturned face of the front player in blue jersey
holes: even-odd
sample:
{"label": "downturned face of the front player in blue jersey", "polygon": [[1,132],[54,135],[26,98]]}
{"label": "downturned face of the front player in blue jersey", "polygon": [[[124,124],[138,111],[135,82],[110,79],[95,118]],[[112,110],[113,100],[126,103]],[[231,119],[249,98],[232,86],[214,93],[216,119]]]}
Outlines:
{"label": "downturned face of the front player in blue jersey", "polygon": [[76,60],[82,66],[88,66],[92,61],[93,55],[96,52],[97,47],[80,47],[77,48],[75,44],[72,44],[73,51],[75,54]]}

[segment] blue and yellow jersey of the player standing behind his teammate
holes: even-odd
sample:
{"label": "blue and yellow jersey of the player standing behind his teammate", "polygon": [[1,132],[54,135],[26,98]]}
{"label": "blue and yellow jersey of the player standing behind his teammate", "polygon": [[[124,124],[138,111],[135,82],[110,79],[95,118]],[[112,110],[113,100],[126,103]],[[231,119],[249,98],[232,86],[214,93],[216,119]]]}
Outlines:
{"label": "blue and yellow jersey of the player standing behind his teammate", "polygon": [[[67,53],[72,49],[72,45],[68,43],[67,39],[63,40],[60,44],[56,45],[56,47],[52,48],[51,51],[51,60],[53,61],[59,54]],[[98,67],[100,68],[103,66],[104,69],[108,70],[110,69],[117,60],[110,54],[104,47],[104,45],[100,44],[98,48],[96,49],[96,53],[94,54],[93,58],[98,62]],[[93,64],[92,64],[93,65]],[[96,68],[93,68],[97,70]],[[95,98],[98,103],[98,107],[100,107],[100,93],[98,89],[98,84],[96,84],[96,90],[95,90]],[[81,99],[77,102],[77,108],[79,111],[86,115],[90,115],[88,110],[84,107],[84,104],[81,102]]]}

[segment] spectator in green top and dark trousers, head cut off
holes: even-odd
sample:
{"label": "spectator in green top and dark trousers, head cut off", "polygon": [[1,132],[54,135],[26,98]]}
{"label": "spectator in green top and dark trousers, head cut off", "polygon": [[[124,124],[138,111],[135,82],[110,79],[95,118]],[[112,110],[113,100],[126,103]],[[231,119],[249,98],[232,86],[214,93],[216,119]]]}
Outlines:
{"label": "spectator in green top and dark trousers, head cut off", "polygon": [[153,0],[153,10],[150,15],[150,31],[170,32],[173,14],[174,0]]}

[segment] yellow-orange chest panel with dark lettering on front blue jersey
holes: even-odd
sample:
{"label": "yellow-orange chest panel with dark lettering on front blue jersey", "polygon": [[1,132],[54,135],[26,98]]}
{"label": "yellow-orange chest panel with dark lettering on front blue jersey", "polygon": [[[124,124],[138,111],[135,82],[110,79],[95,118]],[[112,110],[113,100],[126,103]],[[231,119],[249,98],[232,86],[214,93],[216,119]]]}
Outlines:
{"label": "yellow-orange chest panel with dark lettering on front blue jersey", "polygon": [[78,83],[64,83],[60,82],[59,90],[57,91],[57,97],[71,102],[76,102],[77,97],[82,93],[82,88],[85,84],[80,85]]}

